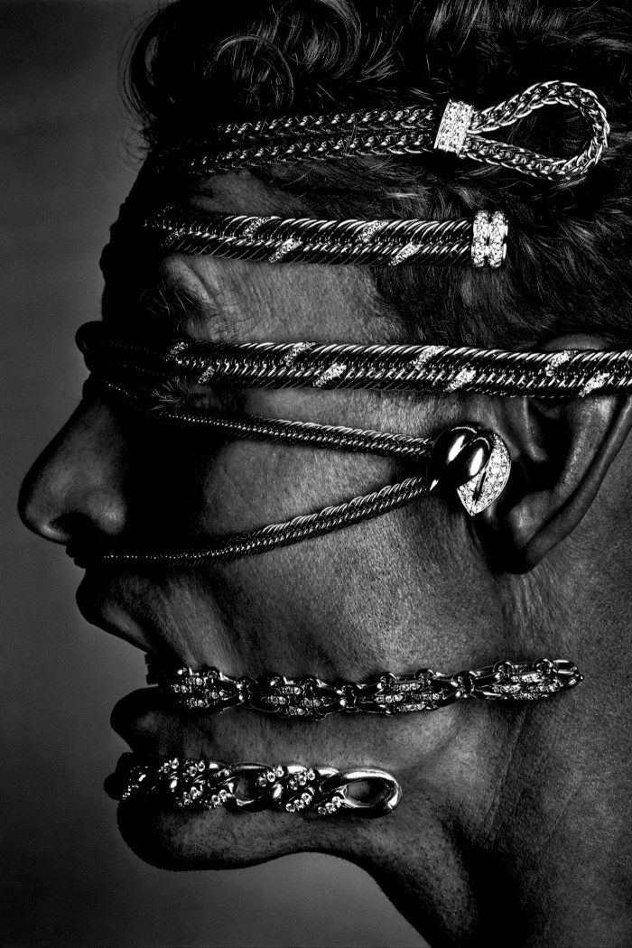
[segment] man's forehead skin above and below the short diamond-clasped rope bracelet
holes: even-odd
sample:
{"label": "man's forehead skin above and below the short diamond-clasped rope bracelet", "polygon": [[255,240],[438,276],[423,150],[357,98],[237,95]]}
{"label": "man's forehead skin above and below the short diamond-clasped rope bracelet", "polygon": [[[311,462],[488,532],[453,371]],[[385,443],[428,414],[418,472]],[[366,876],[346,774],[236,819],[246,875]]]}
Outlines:
{"label": "man's forehead skin above and below the short diamond-clasped rope bracelet", "polygon": [[[220,175],[200,185],[191,192],[189,206],[235,214],[283,213],[275,191],[249,173]],[[289,216],[287,210],[283,216]],[[359,267],[176,253],[164,258],[157,280],[180,301],[180,328],[193,337],[357,343],[388,337],[374,284]]]}

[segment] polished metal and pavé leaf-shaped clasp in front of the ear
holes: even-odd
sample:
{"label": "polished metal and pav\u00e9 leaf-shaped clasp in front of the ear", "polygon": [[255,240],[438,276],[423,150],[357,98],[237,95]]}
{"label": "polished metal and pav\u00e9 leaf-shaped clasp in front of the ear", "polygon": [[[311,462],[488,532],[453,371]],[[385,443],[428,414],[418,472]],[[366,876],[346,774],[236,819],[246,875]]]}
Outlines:
{"label": "polished metal and pav\u00e9 leaf-shaped clasp in front of the ear", "polygon": [[471,517],[496,501],[511,469],[509,451],[495,432],[446,428],[428,460],[428,492],[456,489]]}

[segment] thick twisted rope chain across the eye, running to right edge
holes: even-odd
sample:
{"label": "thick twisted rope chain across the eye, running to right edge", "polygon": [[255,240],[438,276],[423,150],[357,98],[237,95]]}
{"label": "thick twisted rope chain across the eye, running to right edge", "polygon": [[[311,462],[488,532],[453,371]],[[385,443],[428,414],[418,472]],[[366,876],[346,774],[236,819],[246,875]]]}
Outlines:
{"label": "thick twisted rope chain across the eye, running to right edge", "polygon": [[88,368],[133,388],[177,377],[190,385],[367,389],[584,397],[632,388],[632,350],[511,352],[449,346],[322,345],[178,339],[148,347],[87,323],[78,345]]}

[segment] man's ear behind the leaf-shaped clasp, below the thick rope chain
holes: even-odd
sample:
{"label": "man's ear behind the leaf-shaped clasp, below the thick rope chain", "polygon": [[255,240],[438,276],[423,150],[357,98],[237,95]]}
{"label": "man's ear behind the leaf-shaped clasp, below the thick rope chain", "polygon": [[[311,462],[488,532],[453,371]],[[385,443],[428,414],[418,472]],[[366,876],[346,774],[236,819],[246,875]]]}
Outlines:
{"label": "man's ear behind the leaf-shaped clasp, below the thick rope chain", "polygon": [[[575,336],[545,348],[605,344]],[[526,573],[569,536],[594,501],[632,427],[632,397],[488,399],[483,417],[509,447],[512,472],[500,498],[474,518],[472,528],[498,569]]]}

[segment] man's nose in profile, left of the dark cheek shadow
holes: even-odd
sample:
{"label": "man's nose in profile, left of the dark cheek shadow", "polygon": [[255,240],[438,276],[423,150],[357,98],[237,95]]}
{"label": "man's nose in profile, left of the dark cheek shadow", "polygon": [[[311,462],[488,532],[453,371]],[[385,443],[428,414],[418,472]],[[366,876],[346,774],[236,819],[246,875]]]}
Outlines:
{"label": "man's nose in profile, left of the dark cheek shadow", "polygon": [[115,537],[127,520],[127,452],[104,402],[82,402],[27,473],[18,510],[54,543]]}

